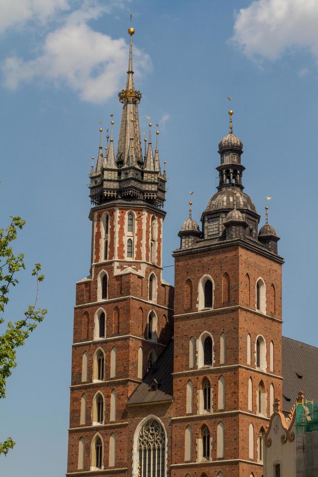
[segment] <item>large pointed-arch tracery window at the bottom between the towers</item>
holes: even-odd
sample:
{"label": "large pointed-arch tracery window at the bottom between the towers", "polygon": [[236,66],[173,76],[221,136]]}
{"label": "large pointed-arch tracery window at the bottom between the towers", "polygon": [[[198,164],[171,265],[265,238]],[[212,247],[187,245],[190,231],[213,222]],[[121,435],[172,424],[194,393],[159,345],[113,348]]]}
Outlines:
{"label": "large pointed-arch tracery window at the bottom between the towers", "polygon": [[141,428],[138,438],[141,477],[164,477],[165,435],[155,419],[149,419]]}

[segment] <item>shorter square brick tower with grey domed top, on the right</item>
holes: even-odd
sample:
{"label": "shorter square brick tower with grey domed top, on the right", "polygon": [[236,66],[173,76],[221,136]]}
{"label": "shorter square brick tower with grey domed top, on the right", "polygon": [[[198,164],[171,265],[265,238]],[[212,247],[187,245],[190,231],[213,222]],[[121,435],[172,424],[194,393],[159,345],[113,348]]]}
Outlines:
{"label": "shorter square brick tower with grey domed top, on the right", "polygon": [[219,143],[218,191],[179,232],[171,476],[263,475],[262,432],[282,394],[283,259],[243,192],[243,144]]}

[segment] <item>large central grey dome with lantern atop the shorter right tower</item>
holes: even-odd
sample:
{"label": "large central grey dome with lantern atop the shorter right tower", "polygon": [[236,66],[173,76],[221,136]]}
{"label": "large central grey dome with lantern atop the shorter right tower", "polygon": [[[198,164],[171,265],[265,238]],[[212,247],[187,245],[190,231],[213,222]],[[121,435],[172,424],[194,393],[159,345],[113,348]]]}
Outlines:
{"label": "large central grey dome with lantern atop the shorter right tower", "polygon": [[[242,141],[233,134],[233,111],[229,111],[230,131],[219,142],[220,165],[216,167],[219,174],[217,192],[212,196],[201,216],[202,232],[205,239],[225,238],[225,220],[227,214],[234,209],[234,194],[236,210],[246,221],[246,238],[257,241],[258,223],[260,216],[252,199],[243,192],[242,184],[244,165],[241,164],[243,154]],[[235,213],[236,215],[237,212]]]}

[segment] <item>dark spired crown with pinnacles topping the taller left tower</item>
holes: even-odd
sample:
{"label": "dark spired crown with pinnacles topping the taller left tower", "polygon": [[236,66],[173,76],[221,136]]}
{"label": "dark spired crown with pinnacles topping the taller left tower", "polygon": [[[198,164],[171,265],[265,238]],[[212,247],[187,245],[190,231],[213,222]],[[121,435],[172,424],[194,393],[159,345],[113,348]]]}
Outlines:
{"label": "dark spired crown with pinnacles topping the taller left tower", "polygon": [[[141,201],[151,203],[156,207],[163,207],[166,192],[166,174],[161,174],[158,150],[158,134],[155,156],[149,133],[149,147],[146,157],[142,157],[141,134],[139,126],[138,104],[141,101],[141,92],[135,89],[133,71],[133,44],[134,28],[128,29],[130,36],[129,60],[126,87],[118,93],[119,101],[123,105],[118,147],[115,154],[113,144],[113,125],[111,121],[111,138],[106,146],[106,158],[100,140],[100,149],[96,169],[90,171],[90,200],[99,205],[114,200]],[[113,116],[111,114],[111,116]],[[151,124],[149,125],[151,129]]]}

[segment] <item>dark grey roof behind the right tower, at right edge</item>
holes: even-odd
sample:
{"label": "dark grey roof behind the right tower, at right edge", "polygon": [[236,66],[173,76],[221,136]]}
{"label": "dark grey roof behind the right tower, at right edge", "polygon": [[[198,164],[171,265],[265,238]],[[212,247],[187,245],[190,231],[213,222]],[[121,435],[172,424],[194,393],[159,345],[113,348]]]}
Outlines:
{"label": "dark grey roof behind the right tower, at right edge", "polygon": [[282,355],[283,412],[289,412],[299,391],[305,399],[318,401],[318,348],[283,336]]}

